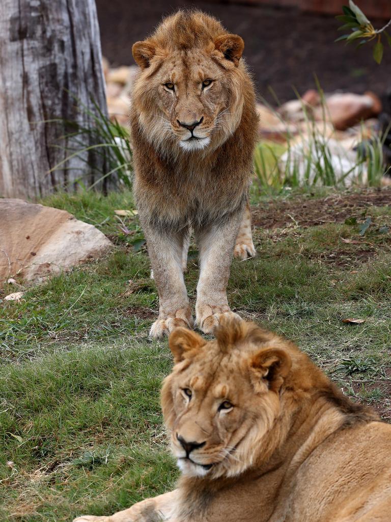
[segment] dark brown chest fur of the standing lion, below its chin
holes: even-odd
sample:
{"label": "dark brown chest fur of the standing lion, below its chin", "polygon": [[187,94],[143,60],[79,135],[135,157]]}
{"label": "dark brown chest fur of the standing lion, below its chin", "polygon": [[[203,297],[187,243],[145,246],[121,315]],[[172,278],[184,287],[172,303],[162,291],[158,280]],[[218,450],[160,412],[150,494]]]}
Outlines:
{"label": "dark brown chest fur of the standing lion, below its chin", "polygon": [[240,156],[233,155],[235,140],[236,133],[219,150],[207,154],[164,157],[139,136],[134,153],[134,192],[140,215],[197,227],[237,211],[247,195],[252,156],[250,150],[246,158],[243,151]]}

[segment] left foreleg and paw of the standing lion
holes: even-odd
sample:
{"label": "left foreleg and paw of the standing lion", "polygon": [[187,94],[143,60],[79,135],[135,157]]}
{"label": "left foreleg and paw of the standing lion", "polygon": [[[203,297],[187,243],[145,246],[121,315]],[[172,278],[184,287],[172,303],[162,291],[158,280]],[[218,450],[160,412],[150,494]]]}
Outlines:
{"label": "left foreleg and paw of the standing lion", "polygon": [[177,326],[193,326],[183,276],[183,251],[187,230],[171,232],[144,227],[153,278],[159,295],[159,317],[151,337],[168,335]]}

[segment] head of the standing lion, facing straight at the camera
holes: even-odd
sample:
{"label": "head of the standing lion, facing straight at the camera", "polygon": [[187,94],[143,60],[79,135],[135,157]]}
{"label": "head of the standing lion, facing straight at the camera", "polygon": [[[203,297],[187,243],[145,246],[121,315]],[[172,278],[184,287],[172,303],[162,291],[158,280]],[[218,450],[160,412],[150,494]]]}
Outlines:
{"label": "head of the standing lion, facing straight at the camera", "polygon": [[155,146],[202,150],[220,144],[240,121],[243,40],[221,35],[221,26],[216,38],[211,23],[218,22],[202,14],[178,13],[151,38],[133,45],[141,67],[133,103]]}

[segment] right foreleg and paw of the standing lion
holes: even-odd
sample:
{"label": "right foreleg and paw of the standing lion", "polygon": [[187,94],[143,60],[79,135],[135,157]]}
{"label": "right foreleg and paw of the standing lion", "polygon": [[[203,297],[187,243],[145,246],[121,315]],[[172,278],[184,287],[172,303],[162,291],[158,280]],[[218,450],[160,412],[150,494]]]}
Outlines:
{"label": "right foreleg and paw of the standing lion", "polygon": [[221,314],[230,312],[227,283],[235,239],[242,212],[223,223],[198,231],[200,279],[197,285],[196,322],[205,333],[212,333]]}

